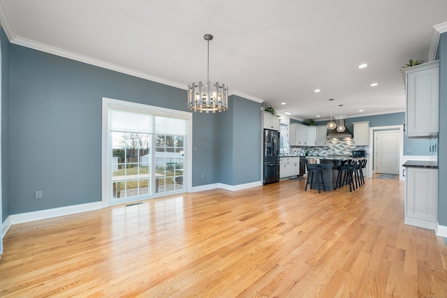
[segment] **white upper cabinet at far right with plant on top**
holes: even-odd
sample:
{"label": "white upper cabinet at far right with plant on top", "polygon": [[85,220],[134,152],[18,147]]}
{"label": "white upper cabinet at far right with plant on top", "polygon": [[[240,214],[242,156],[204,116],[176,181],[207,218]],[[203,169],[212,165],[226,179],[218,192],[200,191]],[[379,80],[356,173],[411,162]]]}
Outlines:
{"label": "white upper cabinet at far right with plant on top", "polygon": [[429,137],[439,131],[439,61],[404,68],[406,134]]}

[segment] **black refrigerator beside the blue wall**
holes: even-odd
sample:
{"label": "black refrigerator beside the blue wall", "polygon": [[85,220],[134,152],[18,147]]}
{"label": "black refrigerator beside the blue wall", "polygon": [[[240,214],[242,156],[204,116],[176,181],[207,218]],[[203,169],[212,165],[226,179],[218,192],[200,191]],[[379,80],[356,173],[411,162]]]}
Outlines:
{"label": "black refrigerator beside the blue wall", "polygon": [[279,181],[279,131],[264,129],[263,184]]}

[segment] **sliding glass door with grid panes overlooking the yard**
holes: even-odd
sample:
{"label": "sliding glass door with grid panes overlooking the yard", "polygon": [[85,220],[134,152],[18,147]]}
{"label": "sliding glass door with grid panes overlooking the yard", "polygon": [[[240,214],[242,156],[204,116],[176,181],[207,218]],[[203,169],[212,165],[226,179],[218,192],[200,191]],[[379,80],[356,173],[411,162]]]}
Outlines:
{"label": "sliding glass door with grid panes overlooking the yard", "polygon": [[107,176],[103,190],[108,193],[108,204],[187,191],[189,165],[185,152],[189,151],[190,113],[153,110],[145,105],[138,105],[138,109],[137,104],[129,103],[129,107],[116,104],[122,103],[120,100],[105,101],[109,166],[103,170]]}

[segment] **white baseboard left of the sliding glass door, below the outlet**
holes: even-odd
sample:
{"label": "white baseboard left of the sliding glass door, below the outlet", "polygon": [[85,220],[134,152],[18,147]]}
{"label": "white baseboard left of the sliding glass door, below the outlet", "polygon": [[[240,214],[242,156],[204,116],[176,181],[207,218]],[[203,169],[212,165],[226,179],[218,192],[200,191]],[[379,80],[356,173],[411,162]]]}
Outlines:
{"label": "white baseboard left of the sliding glass door, below the outlet", "polygon": [[12,214],[9,217],[11,218],[10,223],[12,225],[15,225],[16,223],[28,223],[29,221],[39,221],[41,219],[53,218],[57,216],[65,216],[85,211],[93,211],[102,208],[103,208],[103,202],[93,202],[74,206],[32,211],[22,214]]}

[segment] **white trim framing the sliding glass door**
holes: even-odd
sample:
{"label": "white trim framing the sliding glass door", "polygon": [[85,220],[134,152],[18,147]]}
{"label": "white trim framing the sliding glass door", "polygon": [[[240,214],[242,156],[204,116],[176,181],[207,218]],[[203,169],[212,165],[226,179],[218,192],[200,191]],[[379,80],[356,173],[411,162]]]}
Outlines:
{"label": "white trim framing the sliding glass door", "polygon": [[[187,135],[189,141],[186,142],[186,148],[184,152],[184,157],[186,159],[185,163],[187,166],[187,177],[186,177],[186,193],[191,193],[192,189],[192,129],[193,129],[193,115],[191,112],[183,112],[179,110],[171,110],[167,109],[165,107],[155,107],[152,105],[144,105],[142,103],[131,103],[129,101],[124,100],[117,100],[112,98],[106,98],[103,97],[103,121],[102,121],[102,154],[101,154],[101,197],[102,197],[102,207],[108,207],[110,202],[110,189],[109,189],[109,182],[110,182],[110,161],[112,160],[111,156],[108,156],[111,154],[109,148],[112,144],[108,144],[111,142],[111,137],[109,137],[109,106],[115,105],[119,106],[122,110],[128,110],[128,111],[135,111],[135,112],[142,112],[147,111],[151,114],[157,114],[160,116],[166,116],[166,117],[175,117],[179,119],[185,119],[188,121],[187,126]],[[166,193],[166,195],[170,195],[170,193]],[[161,195],[160,195],[161,196]],[[158,196],[157,196],[158,197]],[[154,198],[154,197],[152,197]]]}

